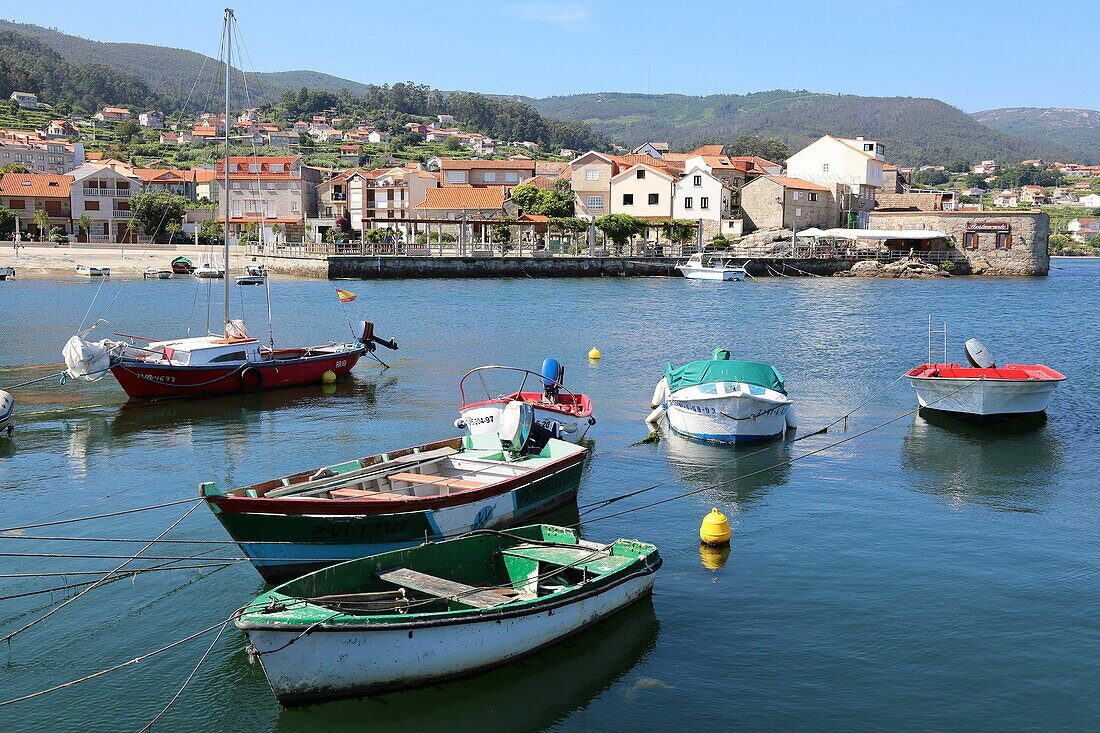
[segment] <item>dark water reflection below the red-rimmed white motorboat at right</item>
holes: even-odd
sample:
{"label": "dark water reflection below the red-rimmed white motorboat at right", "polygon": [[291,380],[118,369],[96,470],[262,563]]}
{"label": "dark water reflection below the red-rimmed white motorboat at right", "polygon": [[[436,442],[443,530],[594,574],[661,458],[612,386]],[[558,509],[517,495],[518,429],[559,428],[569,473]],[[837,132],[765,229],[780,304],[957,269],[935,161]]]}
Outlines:
{"label": "dark water reflection below the red-rimmed white motorboat at right", "polygon": [[902,444],[902,468],[926,475],[919,491],[1005,512],[1043,512],[1048,478],[1062,464],[1046,416],[976,425],[935,411],[914,416]]}

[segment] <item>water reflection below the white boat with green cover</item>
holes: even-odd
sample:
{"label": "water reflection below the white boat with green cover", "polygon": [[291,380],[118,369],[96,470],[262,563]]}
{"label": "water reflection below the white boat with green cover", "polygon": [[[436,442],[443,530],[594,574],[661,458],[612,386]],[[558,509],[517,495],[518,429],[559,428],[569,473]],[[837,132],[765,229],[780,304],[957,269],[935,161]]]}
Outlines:
{"label": "water reflection below the white boat with green cover", "polygon": [[716,489],[718,496],[738,505],[751,504],[769,489],[791,480],[791,447],[785,440],[746,446],[716,446],[689,440],[667,428],[661,449],[681,482],[689,489],[730,481]]}

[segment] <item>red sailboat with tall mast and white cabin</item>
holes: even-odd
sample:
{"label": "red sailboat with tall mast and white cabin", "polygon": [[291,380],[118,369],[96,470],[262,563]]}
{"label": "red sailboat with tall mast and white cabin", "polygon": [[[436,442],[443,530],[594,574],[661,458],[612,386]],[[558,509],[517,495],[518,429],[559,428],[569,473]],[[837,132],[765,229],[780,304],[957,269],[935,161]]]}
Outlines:
{"label": "red sailboat with tall mast and white cabin", "polygon": [[[229,69],[232,67],[231,36],[235,19],[226,9],[222,33],[226,61],[226,117],[230,118]],[[226,179],[223,201],[223,262],[229,262],[230,166],[229,139],[226,140]],[[178,261],[178,259],[177,259]],[[195,271],[199,276],[224,277],[224,269],[205,262]],[[209,294],[208,294],[209,297]],[[354,296],[353,296],[354,297]],[[224,282],[222,331],[186,338],[147,338],[114,333],[122,340],[89,341],[97,325],[76,333],[63,349],[69,379],[96,381],[111,372],[127,394],[136,398],[195,397],[215,394],[257,392],[275,387],[320,382],[327,374],[341,376],[355,366],[359,359],[373,352],[376,346],[396,349],[393,339],[374,336],[374,325],[360,322],[360,336],[354,342],[329,342],[320,346],[279,348],[274,337],[266,344],[253,338],[241,320],[230,317],[230,283]],[[271,297],[268,293],[268,331]]]}

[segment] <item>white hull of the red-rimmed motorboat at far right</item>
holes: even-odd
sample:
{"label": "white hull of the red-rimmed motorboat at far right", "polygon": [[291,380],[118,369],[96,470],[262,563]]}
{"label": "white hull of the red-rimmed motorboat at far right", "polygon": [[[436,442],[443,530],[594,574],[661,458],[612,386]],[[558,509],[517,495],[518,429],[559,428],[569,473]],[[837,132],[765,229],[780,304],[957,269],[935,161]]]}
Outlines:
{"label": "white hull of the red-rimmed motorboat at far right", "polygon": [[1045,412],[1058,381],[910,378],[924,409],[993,417]]}

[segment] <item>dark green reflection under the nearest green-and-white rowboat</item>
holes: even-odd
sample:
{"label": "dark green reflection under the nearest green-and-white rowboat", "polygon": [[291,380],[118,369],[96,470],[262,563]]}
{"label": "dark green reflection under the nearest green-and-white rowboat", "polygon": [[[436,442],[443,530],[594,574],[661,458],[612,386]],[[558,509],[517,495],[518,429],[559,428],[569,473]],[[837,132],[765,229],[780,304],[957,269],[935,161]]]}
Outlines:
{"label": "dark green reflection under the nearest green-and-white rowboat", "polygon": [[[582,710],[652,652],[645,599],[532,657],[477,677],[393,694],[280,711],[278,731],[542,731]],[[243,664],[234,655],[233,664]],[[254,674],[261,674],[258,667]]]}

